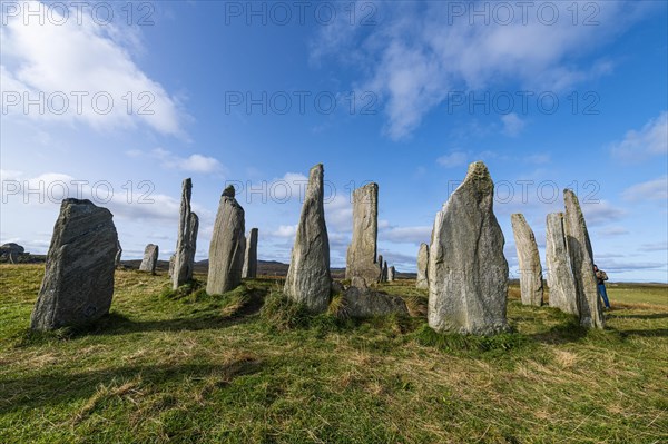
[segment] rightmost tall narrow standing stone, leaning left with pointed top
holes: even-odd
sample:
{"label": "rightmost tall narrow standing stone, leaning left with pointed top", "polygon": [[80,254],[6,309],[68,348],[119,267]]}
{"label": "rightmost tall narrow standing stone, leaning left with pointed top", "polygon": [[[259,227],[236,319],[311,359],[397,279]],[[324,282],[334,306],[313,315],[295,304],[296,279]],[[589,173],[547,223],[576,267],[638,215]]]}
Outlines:
{"label": "rightmost tall narrow standing stone, leaning left with pointed top", "polygon": [[603,310],[598,296],[593,273],[593,253],[584,216],[580,209],[578,196],[572,190],[563,190],[563,203],[566,205],[563,220],[566,240],[576,279],[580,325],[603,328]]}

